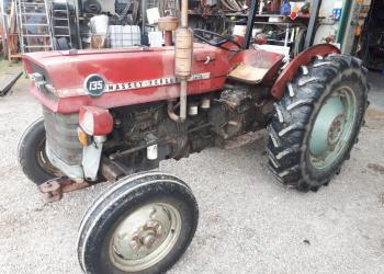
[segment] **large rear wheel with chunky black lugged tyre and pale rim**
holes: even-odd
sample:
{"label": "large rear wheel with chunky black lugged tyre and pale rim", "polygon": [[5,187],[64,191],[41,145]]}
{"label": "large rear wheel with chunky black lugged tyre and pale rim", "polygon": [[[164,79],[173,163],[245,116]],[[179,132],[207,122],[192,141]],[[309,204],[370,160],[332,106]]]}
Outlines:
{"label": "large rear wheel with chunky black lugged tyre and pale rim", "polygon": [[267,155],[279,181],[317,191],[339,173],[358,140],[368,90],[358,58],[334,54],[302,67],[268,126]]}

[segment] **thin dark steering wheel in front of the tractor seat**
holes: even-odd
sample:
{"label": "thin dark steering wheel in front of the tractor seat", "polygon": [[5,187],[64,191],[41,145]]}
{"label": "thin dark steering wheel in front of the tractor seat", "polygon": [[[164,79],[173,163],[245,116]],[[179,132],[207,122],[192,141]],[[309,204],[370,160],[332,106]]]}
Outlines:
{"label": "thin dark steering wheel in front of the tractor seat", "polygon": [[[194,28],[193,36],[202,42],[205,42],[211,46],[219,47],[230,53],[237,53],[241,49],[241,45],[237,43],[235,37],[231,35],[222,35],[222,34],[210,32],[206,30]],[[210,36],[211,38],[207,38],[206,36]],[[223,45],[227,42],[235,45],[237,48],[233,49],[233,48],[224,47]]]}

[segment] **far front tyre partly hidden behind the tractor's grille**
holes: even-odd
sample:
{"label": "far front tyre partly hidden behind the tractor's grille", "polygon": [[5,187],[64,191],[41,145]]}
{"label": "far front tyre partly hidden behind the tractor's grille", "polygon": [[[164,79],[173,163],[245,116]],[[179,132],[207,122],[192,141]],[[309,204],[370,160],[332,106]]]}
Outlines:
{"label": "far front tyre partly hidden behind the tractor's grille", "polygon": [[45,153],[45,127],[42,117],[24,130],[19,141],[18,155],[24,174],[36,185],[59,175],[59,171],[50,164]]}

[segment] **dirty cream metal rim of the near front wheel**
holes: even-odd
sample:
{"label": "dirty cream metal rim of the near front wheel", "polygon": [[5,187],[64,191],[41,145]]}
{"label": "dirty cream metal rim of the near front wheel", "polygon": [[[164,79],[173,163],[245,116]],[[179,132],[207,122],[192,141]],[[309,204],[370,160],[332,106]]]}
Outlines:
{"label": "dirty cream metal rim of the near front wheel", "polygon": [[181,215],[172,205],[153,203],[125,217],[112,232],[111,262],[125,272],[148,269],[173,248],[181,230]]}

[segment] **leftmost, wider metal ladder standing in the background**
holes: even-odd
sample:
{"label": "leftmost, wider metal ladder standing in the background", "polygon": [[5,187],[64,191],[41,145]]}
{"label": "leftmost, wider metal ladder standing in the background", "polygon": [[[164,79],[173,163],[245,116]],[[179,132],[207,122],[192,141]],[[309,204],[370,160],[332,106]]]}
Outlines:
{"label": "leftmost, wider metal ladder standing in the background", "polygon": [[23,54],[53,49],[46,0],[16,0],[16,15]]}

